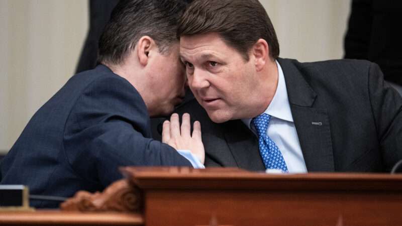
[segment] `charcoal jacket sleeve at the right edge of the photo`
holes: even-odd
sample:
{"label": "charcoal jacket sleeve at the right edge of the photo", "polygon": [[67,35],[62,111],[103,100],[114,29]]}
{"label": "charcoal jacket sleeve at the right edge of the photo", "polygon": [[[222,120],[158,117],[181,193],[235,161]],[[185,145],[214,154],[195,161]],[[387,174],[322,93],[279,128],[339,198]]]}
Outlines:
{"label": "charcoal jacket sleeve at the right edge of the photo", "polygon": [[389,171],[402,159],[402,97],[383,80],[374,63],[369,68],[368,91],[383,162]]}

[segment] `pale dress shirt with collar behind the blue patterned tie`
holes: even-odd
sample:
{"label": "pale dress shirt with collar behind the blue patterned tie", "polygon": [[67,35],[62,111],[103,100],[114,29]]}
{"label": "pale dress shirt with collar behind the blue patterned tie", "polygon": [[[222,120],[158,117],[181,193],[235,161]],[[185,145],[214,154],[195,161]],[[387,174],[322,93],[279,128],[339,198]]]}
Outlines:
{"label": "pale dress shirt with collar behind the blue patterned tie", "polygon": [[[289,173],[306,173],[307,167],[290,111],[285,78],[277,61],[276,65],[278,66],[278,86],[271,103],[264,111],[271,116],[267,135],[278,146]],[[248,128],[256,134],[254,125],[251,125],[251,120],[242,119]]]}

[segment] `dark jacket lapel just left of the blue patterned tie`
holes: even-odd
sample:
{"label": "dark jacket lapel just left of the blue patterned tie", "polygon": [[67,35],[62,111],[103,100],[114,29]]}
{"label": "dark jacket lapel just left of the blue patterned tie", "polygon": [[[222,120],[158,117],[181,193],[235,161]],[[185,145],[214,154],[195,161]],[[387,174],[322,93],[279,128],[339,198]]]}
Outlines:
{"label": "dark jacket lapel just left of the blue patterned tie", "polygon": [[227,122],[225,139],[238,167],[252,170],[265,170],[256,136],[241,120]]}

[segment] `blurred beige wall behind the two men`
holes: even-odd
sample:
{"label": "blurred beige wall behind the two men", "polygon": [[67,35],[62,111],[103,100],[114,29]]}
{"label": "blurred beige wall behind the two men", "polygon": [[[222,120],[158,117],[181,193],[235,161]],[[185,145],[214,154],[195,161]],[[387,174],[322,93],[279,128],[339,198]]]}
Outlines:
{"label": "blurred beige wall behind the two men", "polygon": [[[350,0],[261,0],[280,57],[339,59]],[[84,0],[0,0],[0,152],[73,75],[88,28]],[[63,103],[60,103],[63,104]]]}

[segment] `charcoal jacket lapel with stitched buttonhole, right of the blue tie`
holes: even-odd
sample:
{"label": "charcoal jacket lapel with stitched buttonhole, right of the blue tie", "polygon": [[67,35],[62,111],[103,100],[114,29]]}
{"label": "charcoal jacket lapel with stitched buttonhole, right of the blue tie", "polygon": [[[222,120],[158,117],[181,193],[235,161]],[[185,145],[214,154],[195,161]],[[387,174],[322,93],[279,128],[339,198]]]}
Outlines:
{"label": "charcoal jacket lapel with stitched buttonhole, right of the blue tie", "polygon": [[313,107],[316,92],[288,59],[278,59],[286,82],[290,109],[307,170],[334,171],[327,109]]}

